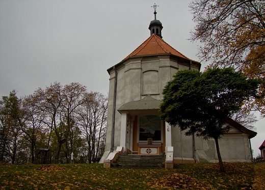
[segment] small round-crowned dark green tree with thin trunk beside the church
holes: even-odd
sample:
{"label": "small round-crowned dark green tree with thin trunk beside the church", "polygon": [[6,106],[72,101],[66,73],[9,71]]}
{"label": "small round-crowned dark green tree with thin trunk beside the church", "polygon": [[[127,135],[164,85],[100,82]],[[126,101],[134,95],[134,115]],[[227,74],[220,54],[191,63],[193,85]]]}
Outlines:
{"label": "small round-crowned dark green tree with thin trunk beside the church", "polygon": [[232,68],[179,71],[163,90],[161,119],[187,130],[186,135],[213,138],[224,172],[218,139],[230,129],[226,118],[240,111],[245,100],[255,97],[259,83]]}

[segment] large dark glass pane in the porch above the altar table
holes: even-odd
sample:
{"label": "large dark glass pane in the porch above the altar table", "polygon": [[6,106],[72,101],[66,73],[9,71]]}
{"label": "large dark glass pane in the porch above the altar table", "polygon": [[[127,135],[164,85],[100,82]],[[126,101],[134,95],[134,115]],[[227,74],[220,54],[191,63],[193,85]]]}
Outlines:
{"label": "large dark glass pane in the porch above the altar table", "polygon": [[161,141],[161,120],[158,116],[140,116],[139,141]]}

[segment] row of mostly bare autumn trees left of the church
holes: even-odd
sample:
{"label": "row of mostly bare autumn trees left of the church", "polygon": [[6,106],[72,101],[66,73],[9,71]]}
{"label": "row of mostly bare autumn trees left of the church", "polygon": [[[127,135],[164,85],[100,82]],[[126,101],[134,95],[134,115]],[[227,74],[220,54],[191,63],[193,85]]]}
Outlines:
{"label": "row of mostly bare autumn trees left of the church", "polygon": [[78,83],[55,82],[23,98],[12,91],[0,100],[0,160],[19,164],[31,153],[36,162],[36,150],[47,147],[56,164],[72,152],[91,162],[104,151],[107,99]]}

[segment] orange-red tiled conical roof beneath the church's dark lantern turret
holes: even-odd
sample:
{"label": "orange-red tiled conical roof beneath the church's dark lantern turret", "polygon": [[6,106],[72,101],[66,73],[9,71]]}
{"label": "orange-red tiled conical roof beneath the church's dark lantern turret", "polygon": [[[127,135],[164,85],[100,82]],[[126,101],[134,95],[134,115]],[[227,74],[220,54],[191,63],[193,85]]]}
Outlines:
{"label": "orange-red tiled conical roof beneath the church's dark lantern turret", "polygon": [[171,47],[167,42],[162,40],[160,37],[152,34],[147,40],[144,41],[139,47],[136,48],[130,55],[124,58],[122,61],[138,56],[151,56],[151,55],[165,55],[172,54],[184,59],[188,59],[182,53]]}

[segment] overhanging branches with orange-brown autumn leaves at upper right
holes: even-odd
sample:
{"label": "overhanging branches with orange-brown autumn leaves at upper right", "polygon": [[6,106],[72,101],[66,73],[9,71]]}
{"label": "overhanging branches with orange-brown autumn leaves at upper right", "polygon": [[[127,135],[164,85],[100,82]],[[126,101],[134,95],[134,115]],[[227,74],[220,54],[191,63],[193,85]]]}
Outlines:
{"label": "overhanging branches with orange-brown autumn leaves at upper right", "polygon": [[190,4],[197,23],[191,40],[200,41],[199,56],[210,67],[233,67],[262,78],[256,108],[265,114],[265,1],[196,0]]}

